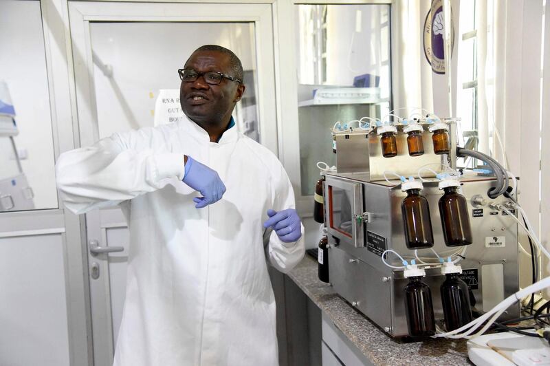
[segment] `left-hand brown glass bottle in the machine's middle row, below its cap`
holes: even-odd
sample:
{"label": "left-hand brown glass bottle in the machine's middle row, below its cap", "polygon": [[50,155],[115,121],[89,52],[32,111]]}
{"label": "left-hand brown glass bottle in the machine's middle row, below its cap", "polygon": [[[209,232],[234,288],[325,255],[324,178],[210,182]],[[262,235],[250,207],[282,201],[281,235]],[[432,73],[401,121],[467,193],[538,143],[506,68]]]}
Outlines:
{"label": "left-hand brown glass bottle in the machine's middle row, below its cap", "polygon": [[409,189],[401,202],[401,214],[405,223],[405,244],[409,249],[434,246],[430,207],[419,189]]}

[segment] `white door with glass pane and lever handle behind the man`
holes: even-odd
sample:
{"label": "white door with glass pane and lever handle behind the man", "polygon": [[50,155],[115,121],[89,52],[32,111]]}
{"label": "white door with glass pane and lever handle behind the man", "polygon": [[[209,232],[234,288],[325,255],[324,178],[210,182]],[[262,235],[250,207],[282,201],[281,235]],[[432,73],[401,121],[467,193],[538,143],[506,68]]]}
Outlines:
{"label": "white door with glass pane and lever handle behind the man", "polygon": [[[153,126],[159,89],[178,89],[192,51],[219,44],[245,70],[239,129],[277,153],[271,4],[74,1],[69,17],[81,146]],[[111,365],[131,243],[119,208],[89,213],[86,224],[95,365]]]}

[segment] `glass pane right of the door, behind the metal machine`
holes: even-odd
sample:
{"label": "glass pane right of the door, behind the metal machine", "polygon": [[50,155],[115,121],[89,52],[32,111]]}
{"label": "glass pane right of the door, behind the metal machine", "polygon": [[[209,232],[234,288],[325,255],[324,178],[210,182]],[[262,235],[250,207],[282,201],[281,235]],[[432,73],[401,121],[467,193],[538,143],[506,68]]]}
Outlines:
{"label": "glass pane right of the door, behind the metal machine", "polygon": [[297,5],[298,119],[302,195],[316,163],[336,164],[337,122],[382,118],[391,107],[388,5]]}

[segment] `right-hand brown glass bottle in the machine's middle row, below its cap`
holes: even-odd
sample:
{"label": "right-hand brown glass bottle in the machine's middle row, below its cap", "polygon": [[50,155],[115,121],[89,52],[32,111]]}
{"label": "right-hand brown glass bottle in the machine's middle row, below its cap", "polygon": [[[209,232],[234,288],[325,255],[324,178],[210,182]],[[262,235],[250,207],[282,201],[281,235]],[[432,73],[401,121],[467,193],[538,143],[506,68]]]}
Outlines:
{"label": "right-hand brown glass bottle in the machine's middle row, below its cap", "polygon": [[439,214],[443,237],[447,246],[467,246],[472,244],[472,228],[466,199],[458,192],[459,187],[445,187],[439,199]]}

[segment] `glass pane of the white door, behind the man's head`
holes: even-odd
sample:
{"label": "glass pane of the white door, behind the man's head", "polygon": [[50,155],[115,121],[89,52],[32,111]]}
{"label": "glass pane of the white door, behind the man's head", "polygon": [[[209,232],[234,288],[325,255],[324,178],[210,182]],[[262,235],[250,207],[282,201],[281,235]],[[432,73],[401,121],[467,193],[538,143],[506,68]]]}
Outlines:
{"label": "glass pane of the white door, behind the man's head", "polygon": [[[153,126],[159,90],[179,90],[177,69],[197,47],[217,44],[241,59],[246,89],[233,116],[259,141],[253,23],[91,23],[90,30],[100,138]],[[192,36],[182,43],[182,34]],[[175,106],[181,115],[179,100]]]}

